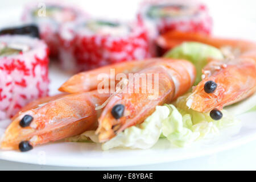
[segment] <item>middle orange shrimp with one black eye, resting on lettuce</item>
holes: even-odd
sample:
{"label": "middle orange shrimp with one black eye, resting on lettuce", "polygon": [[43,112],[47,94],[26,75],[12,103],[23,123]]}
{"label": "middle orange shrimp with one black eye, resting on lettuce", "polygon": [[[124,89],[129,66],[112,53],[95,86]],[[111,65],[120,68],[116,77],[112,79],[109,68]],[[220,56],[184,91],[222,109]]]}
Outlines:
{"label": "middle orange shrimp with one black eye, resting on lettuce", "polygon": [[142,82],[138,85],[135,82],[130,84],[129,77],[129,84],[124,85],[125,90],[135,90],[138,86],[139,92],[121,92],[110,98],[98,119],[96,134],[100,142],[113,138],[127,127],[142,123],[155,111],[157,105],[171,102],[187,92],[195,81],[196,69],[186,60],[158,59],[141,69],[138,75],[135,74],[133,80],[137,76],[150,73],[158,75],[158,79],[154,77],[151,81],[154,89],[155,82],[158,83],[158,94],[153,96],[148,90],[142,92],[145,85]]}

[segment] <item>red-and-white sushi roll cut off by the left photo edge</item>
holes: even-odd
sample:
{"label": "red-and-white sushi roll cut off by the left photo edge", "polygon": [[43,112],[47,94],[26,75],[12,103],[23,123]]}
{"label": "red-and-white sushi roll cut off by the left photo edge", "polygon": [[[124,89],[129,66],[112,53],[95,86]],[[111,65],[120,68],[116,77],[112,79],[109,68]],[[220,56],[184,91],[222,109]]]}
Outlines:
{"label": "red-and-white sushi roll cut off by the left photo edge", "polygon": [[0,36],[0,119],[48,94],[48,48],[24,35]]}

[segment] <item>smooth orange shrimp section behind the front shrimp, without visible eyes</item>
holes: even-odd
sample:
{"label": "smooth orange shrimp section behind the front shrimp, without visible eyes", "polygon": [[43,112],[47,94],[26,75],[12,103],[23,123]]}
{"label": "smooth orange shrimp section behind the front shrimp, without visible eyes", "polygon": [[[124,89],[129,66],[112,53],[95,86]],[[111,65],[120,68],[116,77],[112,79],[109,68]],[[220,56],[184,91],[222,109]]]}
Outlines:
{"label": "smooth orange shrimp section behind the front shrimp, without visible eyes", "polygon": [[68,81],[64,82],[64,84],[60,86],[59,90],[61,92],[68,93],[79,93],[95,90],[97,89],[98,84],[101,82],[101,80],[97,79],[98,75],[100,75],[101,73],[105,73],[109,77],[111,76],[110,69],[114,69],[115,74],[134,73],[138,72],[139,69],[142,69],[146,65],[155,61],[158,61],[158,59],[129,61],[107,65],[101,68],[93,69],[92,71],[81,72],[69,78]]}

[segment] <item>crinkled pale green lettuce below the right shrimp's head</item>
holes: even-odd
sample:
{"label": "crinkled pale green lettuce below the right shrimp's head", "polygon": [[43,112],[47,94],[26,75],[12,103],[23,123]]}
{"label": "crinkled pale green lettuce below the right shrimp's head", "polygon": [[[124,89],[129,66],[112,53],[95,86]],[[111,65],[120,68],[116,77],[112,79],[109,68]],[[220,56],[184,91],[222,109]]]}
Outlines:
{"label": "crinkled pale green lettuce below the right shrimp's head", "polygon": [[185,105],[189,94],[179,97],[174,105],[165,105],[170,109],[170,115],[162,122],[163,135],[172,144],[187,146],[208,134],[218,134],[220,129],[240,122],[226,110],[222,110],[223,117],[216,121],[210,118],[209,113],[189,109]]}

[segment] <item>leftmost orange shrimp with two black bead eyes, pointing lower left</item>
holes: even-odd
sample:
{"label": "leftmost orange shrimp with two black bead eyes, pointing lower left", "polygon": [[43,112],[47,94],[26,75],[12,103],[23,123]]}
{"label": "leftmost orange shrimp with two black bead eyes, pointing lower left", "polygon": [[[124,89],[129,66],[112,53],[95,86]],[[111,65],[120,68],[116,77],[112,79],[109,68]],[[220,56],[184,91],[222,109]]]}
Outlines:
{"label": "leftmost orange shrimp with two black bead eyes, pointing lower left", "polygon": [[[92,91],[47,97],[32,102],[7,127],[0,147],[4,150],[19,148],[26,151],[26,148],[19,147],[20,143],[28,142],[33,147],[96,129],[100,111],[96,111],[95,107],[108,97],[108,93]],[[47,102],[42,104],[43,101]],[[40,105],[36,106],[38,103]],[[20,123],[25,116],[28,116],[30,123],[25,126],[23,123],[22,126]]]}

